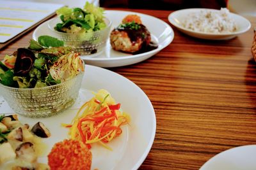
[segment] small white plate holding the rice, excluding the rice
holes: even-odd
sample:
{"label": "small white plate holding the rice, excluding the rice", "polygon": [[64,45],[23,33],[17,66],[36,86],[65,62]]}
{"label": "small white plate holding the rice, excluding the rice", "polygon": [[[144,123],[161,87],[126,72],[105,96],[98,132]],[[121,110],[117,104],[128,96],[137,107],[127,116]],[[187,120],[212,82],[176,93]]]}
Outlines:
{"label": "small white plate holding the rice, excluding the rice", "polygon": [[191,8],[191,9],[185,9],[185,10],[178,10],[174,11],[173,13],[170,13],[168,16],[169,22],[177,27],[181,32],[184,32],[185,34],[188,34],[189,36],[193,36],[195,38],[202,38],[202,39],[212,39],[212,40],[221,40],[221,39],[231,39],[236,37],[239,34],[242,34],[246,31],[248,31],[251,27],[250,22],[240,15],[236,15],[234,13],[230,13],[230,16],[235,20],[238,30],[236,32],[232,33],[221,33],[221,34],[214,34],[214,33],[205,33],[205,32],[198,32],[193,31],[191,29],[186,29],[182,25],[182,21],[189,15],[189,13],[197,13],[201,10],[207,10],[207,11],[220,11],[220,10],[211,10],[211,9],[205,9],[205,8]]}

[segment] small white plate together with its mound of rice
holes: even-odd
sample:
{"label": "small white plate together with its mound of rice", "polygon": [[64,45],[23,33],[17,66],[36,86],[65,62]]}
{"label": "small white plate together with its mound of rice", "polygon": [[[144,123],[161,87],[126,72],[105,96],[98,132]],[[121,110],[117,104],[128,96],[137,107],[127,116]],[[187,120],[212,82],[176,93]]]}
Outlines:
{"label": "small white plate together with its mound of rice", "polygon": [[232,39],[251,27],[246,18],[230,13],[227,8],[178,10],[171,13],[168,20],[181,32],[202,39]]}

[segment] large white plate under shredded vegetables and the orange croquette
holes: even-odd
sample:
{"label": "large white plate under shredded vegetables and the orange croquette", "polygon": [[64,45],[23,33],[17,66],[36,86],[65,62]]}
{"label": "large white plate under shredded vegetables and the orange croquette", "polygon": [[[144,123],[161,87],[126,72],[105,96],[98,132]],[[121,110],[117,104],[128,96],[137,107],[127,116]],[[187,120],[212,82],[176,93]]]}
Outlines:
{"label": "large white plate under shredded vegetables and the orange croquette", "polygon": [[[40,120],[49,128],[52,136],[44,139],[49,146],[45,153],[47,155],[54,143],[67,138],[67,129],[61,127],[61,123],[70,123],[77,109],[93,97],[91,91],[99,89],[108,90],[116,102],[121,103],[122,110],[131,116],[131,124],[125,125],[122,135],[109,143],[113,151],[100,145],[92,146],[92,169],[138,169],[153,144],[156,134],[156,115],[146,94],[120,74],[86,65],[79,97],[72,108],[54,117],[36,119],[19,116],[19,119],[22,123],[31,126]],[[0,110],[1,113],[13,113],[1,95]],[[47,157],[40,160],[47,163]]]}

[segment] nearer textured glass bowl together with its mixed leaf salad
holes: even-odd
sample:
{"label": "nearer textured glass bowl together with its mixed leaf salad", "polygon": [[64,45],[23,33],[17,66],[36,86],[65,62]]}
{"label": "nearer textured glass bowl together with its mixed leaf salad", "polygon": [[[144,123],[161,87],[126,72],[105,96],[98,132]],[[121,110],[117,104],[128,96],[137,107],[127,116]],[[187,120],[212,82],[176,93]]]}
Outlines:
{"label": "nearer textured glass bowl together with its mixed leaf salad", "polygon": [[[79,53],[51,36],[31,39],[28,48],[0,61],[0,91],[9,106],[25,117],[51,117],[77,99],[84,74]],[[12,88],[10,88],[12,87]]]}

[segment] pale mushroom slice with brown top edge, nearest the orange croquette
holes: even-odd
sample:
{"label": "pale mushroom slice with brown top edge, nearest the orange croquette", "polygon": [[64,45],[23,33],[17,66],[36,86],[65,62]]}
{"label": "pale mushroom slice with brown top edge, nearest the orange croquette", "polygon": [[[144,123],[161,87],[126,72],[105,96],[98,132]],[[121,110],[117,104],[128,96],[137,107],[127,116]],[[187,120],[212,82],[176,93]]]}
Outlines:
{"label": "pale mushroom slice with brown top edge, nearest the orange croquette", "polygon": [[33,143],[30,142],[20,144],[20,146],[15,150],[15,153],[18,159],[26,162],[33,163],[37,159],[36,152],[33,148]]}

